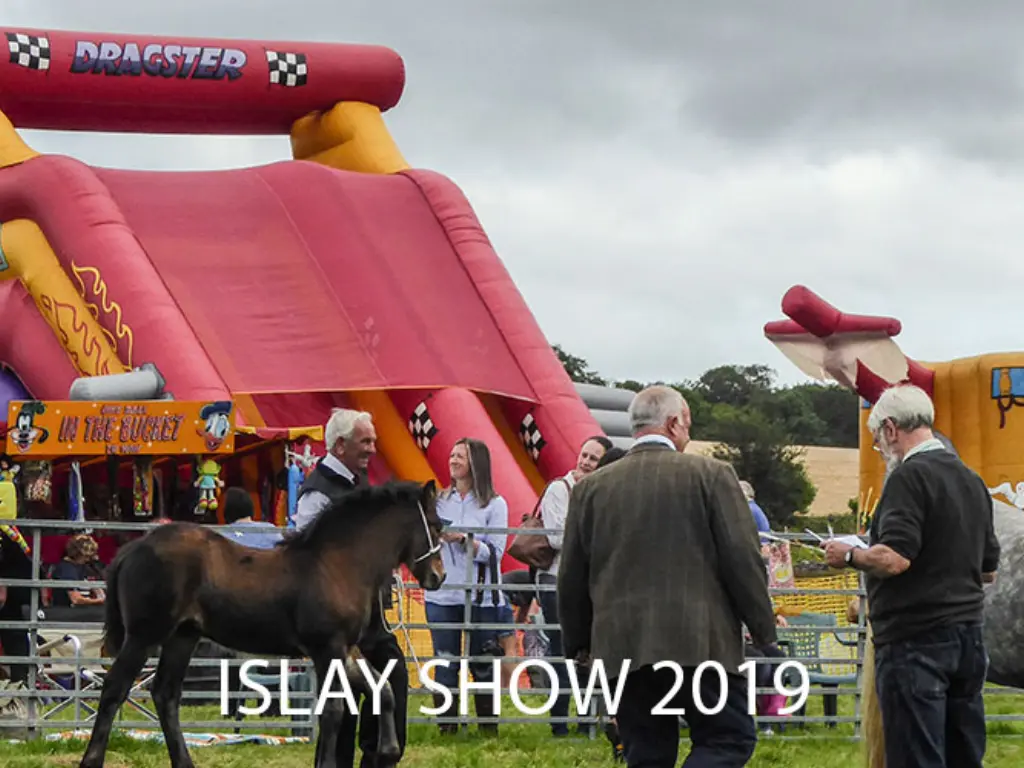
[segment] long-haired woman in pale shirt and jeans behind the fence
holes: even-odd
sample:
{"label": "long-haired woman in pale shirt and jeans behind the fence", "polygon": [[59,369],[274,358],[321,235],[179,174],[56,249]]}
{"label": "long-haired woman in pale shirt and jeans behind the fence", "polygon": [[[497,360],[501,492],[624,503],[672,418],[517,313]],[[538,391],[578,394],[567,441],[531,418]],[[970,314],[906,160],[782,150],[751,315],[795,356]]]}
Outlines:
{"label": "long-haired woman in pale shirt and jeans behind the fence", "polygon": [[[490,479],[490,452],[485,443],[464,437],[452,447],[449,458],[452,485],[437,499],[437,514],[449,525],[456,527],[507,528],[508,504],[495,493]],[[462,532],[445,531],[441,535],[441,557],[447,573],[445,586],[463,586],[467,589],[442,589],[424,593],[427,621],[430,624],[461,624],[466,617],[467,599],[470,604],[471,624],[498,624],[500,607],[507,605],[501,590],[472,589],[477,584],[501,584],[501,561],[505,554],[507,534],[475,532],[472,549],[469,537]],[[470,572],[471,571],[471,572]],[[459,658],[462,654],[463,631],[459,629],[431,629],[434,655],[444,657],[449,666],[434,668],[434,680],[453,693],[453,702],[438,717],[457,715],[459,710]],[[469,651],[466,655],[498,655],[497,630],[470,630]],[[473,680],[492,682],[494,665],[472,662],[469,665]],[[443,707],[443,696],[434,694],[434,707]],[[476,715],[480,718],[495,716],[489,693],[475,695]],[[458,730],[454,723],[441,723],[442,733]],[[498,725],[481,723],[481,731],[497,732]]]}

